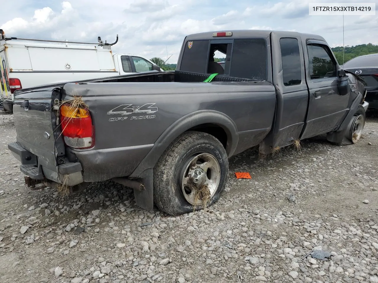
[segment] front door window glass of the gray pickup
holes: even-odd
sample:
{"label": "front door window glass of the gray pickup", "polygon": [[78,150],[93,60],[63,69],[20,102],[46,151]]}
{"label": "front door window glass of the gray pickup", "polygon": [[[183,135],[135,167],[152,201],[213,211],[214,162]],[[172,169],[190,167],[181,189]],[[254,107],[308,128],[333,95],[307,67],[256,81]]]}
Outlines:
{"label": "front door window glass of the gray pickup", "polygon": [[330,56],[330,51],[325,45],[309,44],[308,52],[308,68],[310,78],[336,77],[336,62]]}

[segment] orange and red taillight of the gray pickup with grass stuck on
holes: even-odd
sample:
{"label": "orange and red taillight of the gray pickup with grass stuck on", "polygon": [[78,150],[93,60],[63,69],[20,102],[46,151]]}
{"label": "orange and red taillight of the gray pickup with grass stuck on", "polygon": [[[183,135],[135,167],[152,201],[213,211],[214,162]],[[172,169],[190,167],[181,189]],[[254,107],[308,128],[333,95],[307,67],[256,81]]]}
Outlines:
{"label": "orange and red taillight of the gray pickup with grass stuck on", "polygon": [[80,149],[94,146],[92,118],[87,108],[62,105],[60,121],[67,146]]}

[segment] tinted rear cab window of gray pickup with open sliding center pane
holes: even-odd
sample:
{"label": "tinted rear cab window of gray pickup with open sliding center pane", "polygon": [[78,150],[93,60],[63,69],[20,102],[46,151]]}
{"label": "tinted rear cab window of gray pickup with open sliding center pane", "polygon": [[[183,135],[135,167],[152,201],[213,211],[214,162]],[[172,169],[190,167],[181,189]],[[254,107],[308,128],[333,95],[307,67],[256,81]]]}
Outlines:
{"label": "tinted rear cab window of gray pickup with open sliding center pane", "polygon": [[[215,58],[223,61],[215,62]],[[268,77],[265,38],[186,41],[180,71],[220,74],[257,81]]]}

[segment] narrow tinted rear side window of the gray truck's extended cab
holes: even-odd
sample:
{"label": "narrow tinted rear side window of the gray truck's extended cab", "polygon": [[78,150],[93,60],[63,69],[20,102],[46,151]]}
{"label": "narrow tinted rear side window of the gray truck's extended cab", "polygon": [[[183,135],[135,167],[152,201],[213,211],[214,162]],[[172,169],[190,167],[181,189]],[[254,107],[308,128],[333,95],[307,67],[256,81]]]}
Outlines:
{"label": "narrow tinted rear side window of the gray truck's extended cab", "polygon": [[283,85],[299,85],[302,82],[302,65],[299,43],[296,38],[280,39]]}

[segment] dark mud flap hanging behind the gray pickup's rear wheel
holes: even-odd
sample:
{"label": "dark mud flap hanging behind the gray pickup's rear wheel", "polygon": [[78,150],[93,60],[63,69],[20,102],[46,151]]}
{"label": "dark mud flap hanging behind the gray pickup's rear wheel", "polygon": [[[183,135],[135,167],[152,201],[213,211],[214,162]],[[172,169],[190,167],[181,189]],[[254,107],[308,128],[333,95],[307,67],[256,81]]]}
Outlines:
{"label": "dark mud flap hanging behind the gray pickup's rear wheel", "polygon": [[139,175],[144,185],[143,189],[134,188],[134,197],[136,205],[139,207],[152,210],[153,209],[153,168],[146,169]]}

